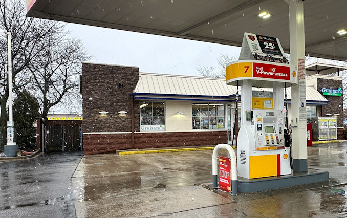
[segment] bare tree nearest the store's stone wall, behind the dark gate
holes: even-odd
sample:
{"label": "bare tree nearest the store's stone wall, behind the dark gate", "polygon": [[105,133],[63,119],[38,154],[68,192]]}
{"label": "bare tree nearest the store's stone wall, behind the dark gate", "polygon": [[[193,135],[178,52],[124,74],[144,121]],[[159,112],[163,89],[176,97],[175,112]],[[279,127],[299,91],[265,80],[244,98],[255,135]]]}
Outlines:
{"label": "bare tree nearest the store's stone wall, behind the dark gate", "polygon": [[37,49],[40,58],[30,61],[28,68],[42,117],[47,119],[54,106],[76,111],[81,99],[78,89],[81,62],[90,59],[81,41],[68,37],[67,32],[52,32],[38,43]]}

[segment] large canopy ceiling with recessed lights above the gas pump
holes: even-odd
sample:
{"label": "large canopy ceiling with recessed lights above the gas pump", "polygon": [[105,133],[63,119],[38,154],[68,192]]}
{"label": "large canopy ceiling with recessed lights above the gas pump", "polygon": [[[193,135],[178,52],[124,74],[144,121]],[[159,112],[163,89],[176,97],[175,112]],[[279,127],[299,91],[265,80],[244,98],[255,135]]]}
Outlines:
{"label": "large canopy ceiling with recessed lights above the gas pump", "polygon": [[[27,16],[232,46],[250,32],[289,53],[288,1],[301,0],[27,0]],[[337,32],[347,30],[347,1],[306,0],[304,9],[306,55],[345,61],[347,34]]]}

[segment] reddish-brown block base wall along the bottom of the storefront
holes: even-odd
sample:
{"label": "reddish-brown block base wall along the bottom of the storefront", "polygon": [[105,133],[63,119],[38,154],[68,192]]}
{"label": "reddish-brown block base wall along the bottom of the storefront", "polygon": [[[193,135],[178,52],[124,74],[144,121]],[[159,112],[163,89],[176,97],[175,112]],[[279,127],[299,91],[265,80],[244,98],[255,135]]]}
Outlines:
{"label": "reddish-brown block base wall along the bottom of the storefront", "polygon": [[[162,132],[135,133],[135,144],[132,144],[131,133],[84,134],[84,151],[98,151],[117,148],[162,148],[180,146],[218,145],[227,142],[227,131],[197,132]],[[86,146],[86,144],[88,146]]]}

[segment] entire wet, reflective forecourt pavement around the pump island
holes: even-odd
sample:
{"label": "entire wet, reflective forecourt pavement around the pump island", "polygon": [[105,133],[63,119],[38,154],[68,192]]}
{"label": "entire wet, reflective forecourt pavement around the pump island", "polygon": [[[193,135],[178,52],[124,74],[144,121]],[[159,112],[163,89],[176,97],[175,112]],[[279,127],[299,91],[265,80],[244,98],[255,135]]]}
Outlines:
{"label": "entire wet, reflective forecourt pavement around the pump island", "polygon": [[347,142],[308,147],[329,183],[237,196],[208,189],[212,150],[45,154],[0,163],[0,217],[347,217],[346,152]]}

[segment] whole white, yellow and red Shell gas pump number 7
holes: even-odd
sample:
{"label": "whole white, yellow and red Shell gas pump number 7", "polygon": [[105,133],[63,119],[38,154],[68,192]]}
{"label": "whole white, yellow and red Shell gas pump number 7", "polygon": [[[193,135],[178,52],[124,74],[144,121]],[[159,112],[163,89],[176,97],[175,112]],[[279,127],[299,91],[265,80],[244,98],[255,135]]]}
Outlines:
{"label": "whole white, yellow and red Shell gas pump number 7", "polygon": [[[240,60],[226,68],[227,84],[239,82],[241,87],[237,175],[247,179],[291,173],[290,148],[285,146],[284,86],[297,83],[296,73],[290,73],[284,56],[265,54],[268,50],[263,51],[259,42],[273,44],[272,53],[276,48],[283,52],[277,38],[245,33]],[[258,53],[254,53],[256,46]]]}

